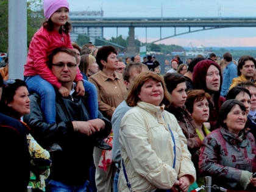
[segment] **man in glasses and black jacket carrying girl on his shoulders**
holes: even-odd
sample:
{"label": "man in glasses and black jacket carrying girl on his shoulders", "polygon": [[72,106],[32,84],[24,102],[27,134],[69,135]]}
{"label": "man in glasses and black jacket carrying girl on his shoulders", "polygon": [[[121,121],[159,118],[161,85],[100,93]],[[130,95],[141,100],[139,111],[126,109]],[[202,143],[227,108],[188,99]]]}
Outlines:
{"label": "man in glasses and black jacket carrying girl on his shoulders", "polygon": [[94,141],[108,136],[111,123],[100,112],[98,119],[91,119],[85,98],[74,91],[77,60],[73,50],[54,49],[49,55],[49,68],[69,93],[64,98],[55,90],[56,123],[46,123],[40,96],[35,93],[30,96],[30,114],[24,121],[38,143],[51,149],[52,166],[46,191],[87,191]]}

